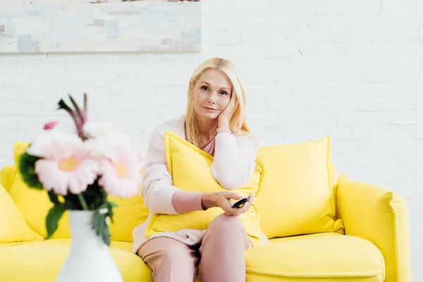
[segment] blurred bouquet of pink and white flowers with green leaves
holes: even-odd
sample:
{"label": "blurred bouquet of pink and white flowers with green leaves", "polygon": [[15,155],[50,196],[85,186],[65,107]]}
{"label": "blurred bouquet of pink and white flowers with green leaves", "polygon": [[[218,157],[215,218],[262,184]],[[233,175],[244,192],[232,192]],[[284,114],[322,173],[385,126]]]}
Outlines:
{"label": "blurred bouquet of pink and white flowers with green leaves", "polygon": [[20,157],[20,173],[31,188],[47,190],[54,204],[46,217],[47,238],[56,231],[63,212],[87,210],[93,212],[92,228],[110,245],[107,221],[113,222],[117,206],[107,197],[132,197],[138,192],[143,157],[113,123],[88,123],[87,94],[83,109],[69,98],[74,109],[63,99],[59,109],[71,115],[75,129],[59,129],[57,122],[44,125]]}

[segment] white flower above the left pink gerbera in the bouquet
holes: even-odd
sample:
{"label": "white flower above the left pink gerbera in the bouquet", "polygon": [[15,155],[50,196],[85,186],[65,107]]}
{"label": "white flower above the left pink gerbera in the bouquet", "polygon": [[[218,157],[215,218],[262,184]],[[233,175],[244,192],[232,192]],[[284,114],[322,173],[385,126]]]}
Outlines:
{"label": "white flower above the left pink gerbera in the bouquet", "polygon": [[37,137],[35,142],[32,142],[31,146],[27,148],[27,154],[36,157],[45,157],[49,152],[49,147],[52,144],[66,145],[66,144],[82,144],[82,140],[75,133],[72,134],[68,131],[54,128],[51,130],[43,130]]}

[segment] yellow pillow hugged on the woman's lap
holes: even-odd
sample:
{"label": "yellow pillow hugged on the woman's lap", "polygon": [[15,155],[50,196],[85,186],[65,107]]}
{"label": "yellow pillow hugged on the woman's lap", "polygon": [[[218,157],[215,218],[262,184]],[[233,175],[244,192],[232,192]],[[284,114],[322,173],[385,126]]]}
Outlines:
{"label": "yellow pillow hugged on the woman's lap", "polygon": [[[171,173],[173,185],[190,192],[216,192],[224,190],[212,176],[210,166],[213,157],[202,149],[192,145],[176,133],[164,134],[164,147],[168,171]],[[242,188],[233,190],[240,195],[259,195],[263,179],[263,168],[257,160],[257,167],[250,181]],[[184,228],[204,230],[209,223],[223,210],[220,207],[207,209],[207,211],[195,211],[184,214],[168,215],[154,214],[146,228],[145,235],[151,235],[164,231],[178,231]],[[255,202],[250,209],[239,216],[252,245],[260,245],[262,231],[259,226],[259,211]]]}

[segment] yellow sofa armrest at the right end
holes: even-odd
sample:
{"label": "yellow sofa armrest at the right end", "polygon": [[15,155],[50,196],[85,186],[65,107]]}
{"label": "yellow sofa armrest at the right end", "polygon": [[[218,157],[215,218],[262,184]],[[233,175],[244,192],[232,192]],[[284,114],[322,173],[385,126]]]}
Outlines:
{"label": "yellow sofa armrest at the right end", "polygon": [[370,240],[384,255],[385,282],[411,281],[410,236],[405,200],[379,185],[338,179],[338,216],[345,234]]}

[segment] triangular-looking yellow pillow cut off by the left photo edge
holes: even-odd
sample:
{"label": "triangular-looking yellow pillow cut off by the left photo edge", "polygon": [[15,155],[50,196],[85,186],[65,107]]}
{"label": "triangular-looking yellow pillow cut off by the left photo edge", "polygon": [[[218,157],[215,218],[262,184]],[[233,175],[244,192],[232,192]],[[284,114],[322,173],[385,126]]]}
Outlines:
{"label": "triangular-looking yellow pillow cut off by the left photo edge", "polygon": [[25,222],[19,209],[0,184],[0,246],[43,240]]}

